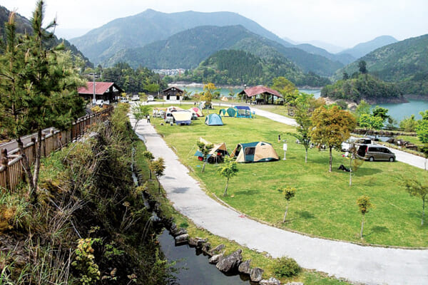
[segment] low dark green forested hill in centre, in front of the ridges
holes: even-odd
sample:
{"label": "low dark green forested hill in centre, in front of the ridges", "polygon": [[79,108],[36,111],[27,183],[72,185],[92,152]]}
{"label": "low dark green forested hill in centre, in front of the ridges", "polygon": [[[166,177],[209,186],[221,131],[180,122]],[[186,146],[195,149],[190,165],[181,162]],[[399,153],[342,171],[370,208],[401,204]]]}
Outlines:
{"label": "low dark green forested hill in centre, in front of the ridges", "polygon": [[285,76],[297,86],[325,86],[327,78],[314,73],[304,74],[284,56],[255,56],[248,51],[222,50],[200,63],[194,71],[186,71],[176,81],[213,82],[223,85],[271,85],[272,79]]}

